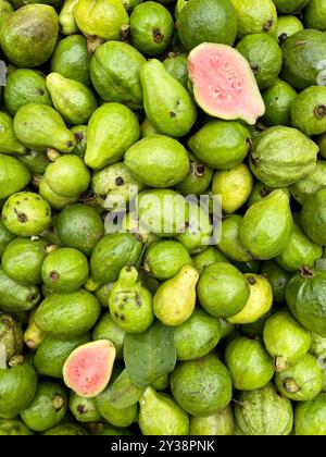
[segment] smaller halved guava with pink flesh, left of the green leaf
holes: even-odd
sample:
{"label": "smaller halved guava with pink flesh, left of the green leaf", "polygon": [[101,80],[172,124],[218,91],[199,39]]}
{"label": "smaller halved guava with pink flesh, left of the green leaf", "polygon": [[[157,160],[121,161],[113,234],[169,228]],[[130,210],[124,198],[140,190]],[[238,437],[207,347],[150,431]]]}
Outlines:
{"label": "smaller halved guava with pink flesh, left of the green leaf", "polygon": [[114,359],[115,347],[109,339],[78,346],[64,362],[65,385],[82,397],[96,397],[110,381]]}

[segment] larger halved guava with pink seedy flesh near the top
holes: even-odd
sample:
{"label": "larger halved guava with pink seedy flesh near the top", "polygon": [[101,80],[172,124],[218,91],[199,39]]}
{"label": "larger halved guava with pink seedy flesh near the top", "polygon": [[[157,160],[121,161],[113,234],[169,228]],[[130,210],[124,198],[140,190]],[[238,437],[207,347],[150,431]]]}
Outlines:
{"label": "larger halved guava with pink seedy flesh near the top", "polygon": [[265,112],[254,74],[239,51],[203,42],[188,58],[189,78],[197,103],[208,114],[241,119],[250,125]]}

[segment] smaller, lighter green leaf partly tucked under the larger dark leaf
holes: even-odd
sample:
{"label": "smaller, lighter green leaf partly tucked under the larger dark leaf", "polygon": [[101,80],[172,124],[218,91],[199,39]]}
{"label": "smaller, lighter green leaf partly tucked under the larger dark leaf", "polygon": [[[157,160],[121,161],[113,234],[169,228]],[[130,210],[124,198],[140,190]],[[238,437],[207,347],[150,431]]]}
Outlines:
{"label": "smaller, lighter green leaf partly tucked under the larger dark leaf", "polygon": [[108,400],[117,409],[135,405],[142,395],[131,383],[129,374],[124,370],[108,390]]}

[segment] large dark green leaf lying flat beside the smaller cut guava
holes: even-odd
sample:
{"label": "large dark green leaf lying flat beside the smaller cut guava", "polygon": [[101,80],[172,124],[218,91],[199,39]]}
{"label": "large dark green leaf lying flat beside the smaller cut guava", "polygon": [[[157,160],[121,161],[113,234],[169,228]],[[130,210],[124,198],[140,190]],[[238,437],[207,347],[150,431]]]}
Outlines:
{"label": "large dark green leaf lying flat beside the smaller cut guava", "polygon": [[158,378],[172,373],[176,357],[173,331],[160,322],[154,322],[143,333],[125,336],[126,370],[138,388],[146,388]]}

